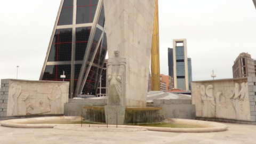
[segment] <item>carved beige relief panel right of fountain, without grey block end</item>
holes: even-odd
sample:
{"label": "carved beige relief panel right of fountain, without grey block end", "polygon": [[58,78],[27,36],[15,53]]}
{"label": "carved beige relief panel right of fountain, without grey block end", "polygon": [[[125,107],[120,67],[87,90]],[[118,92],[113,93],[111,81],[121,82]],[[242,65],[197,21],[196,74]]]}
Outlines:
{"label": "carved beige relief panel right of fountain, without grey block end", "polygon": [[192,86],[191,95],[197,117],[250,121],[247,82],[196,82]]}

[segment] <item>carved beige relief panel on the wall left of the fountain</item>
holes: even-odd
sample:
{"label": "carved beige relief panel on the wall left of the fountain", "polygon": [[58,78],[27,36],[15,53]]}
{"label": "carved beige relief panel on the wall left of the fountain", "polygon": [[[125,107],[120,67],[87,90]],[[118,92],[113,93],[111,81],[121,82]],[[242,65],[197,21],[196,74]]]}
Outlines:
{"label": "carved beige relief panel on the wall left of the fountain", "polygon": [[10,81],[7,116],[63,114],[68,82]]}

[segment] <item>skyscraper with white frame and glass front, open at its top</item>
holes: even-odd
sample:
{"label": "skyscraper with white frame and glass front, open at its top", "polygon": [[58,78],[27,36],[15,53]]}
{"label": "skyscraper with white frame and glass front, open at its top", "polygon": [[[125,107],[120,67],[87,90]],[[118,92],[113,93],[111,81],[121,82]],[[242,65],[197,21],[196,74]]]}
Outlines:
{"label": "skyscraper with white frame and glass front, open at its top", "polygon": [[189,90],[187,39],[173,39],[173,81],[175,89]]}

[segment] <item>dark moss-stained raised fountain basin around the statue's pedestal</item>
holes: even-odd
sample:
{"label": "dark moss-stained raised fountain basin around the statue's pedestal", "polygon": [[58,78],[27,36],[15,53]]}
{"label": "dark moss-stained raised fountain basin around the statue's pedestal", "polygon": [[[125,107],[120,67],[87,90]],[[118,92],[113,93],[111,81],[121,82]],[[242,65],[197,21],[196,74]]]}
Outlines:
{"label": "dark moss-stained raised fountain basin around the statue's pedestal", "polygon": [[108,113],[103,106],[86,106],[83,108],[83,118],[89,122],[106,123],[106,119],[111,117],[112,124],[116,124],[116,116],[118,120],[123,118],[121,122],[118,121],[118,124],[158,123],[164,119],[161,107],[125,107],[124,111],[119,107],[116,109],[118,109],[118,115],[117,110]]}

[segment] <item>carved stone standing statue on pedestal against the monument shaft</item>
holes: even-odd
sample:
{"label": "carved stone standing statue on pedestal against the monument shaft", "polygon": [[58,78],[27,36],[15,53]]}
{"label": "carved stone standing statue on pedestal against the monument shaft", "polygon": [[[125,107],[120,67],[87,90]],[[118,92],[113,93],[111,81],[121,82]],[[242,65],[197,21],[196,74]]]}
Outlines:
{"label": "carved stone standing statue on pedestal against the monument shaft", "polygon": [[126,59],[114,51],[115,58],[108,59],[108,105],[123,106],[125,100]]}

